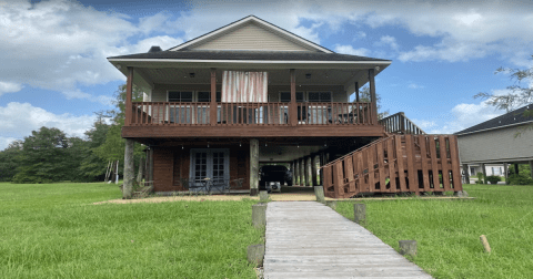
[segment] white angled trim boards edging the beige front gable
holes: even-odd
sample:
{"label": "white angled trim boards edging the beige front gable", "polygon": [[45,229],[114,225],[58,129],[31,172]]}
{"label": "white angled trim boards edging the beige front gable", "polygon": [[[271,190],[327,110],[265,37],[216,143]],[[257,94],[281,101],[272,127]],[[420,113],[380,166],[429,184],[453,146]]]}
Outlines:
{"label": "white angled trim boards edging the beige front gable", "polygon": [[308,46],[310,46],[310,48],[312,48],[312,49],[320,50],[320,51],[325,52],[325,53],[333,53],[332,51],[330,51],[330,50],[328,50],[328,49],[325,49],[325,48],[323,48],[323,46],[321,46],[321,45],[319,45],[319,44],[315,44],[315,43],[312,43],[312,42],[310,42],[310,41],[308,41],[308,40],[305,40],[305,39],[302,39],[302,38],[295,35],[295,34],[293,34],[293,33],[291,33],[291,32],[289,32],[289,31],[285,31],[285,30],[283,30],[283,29],[281,29],[281,28],[279,28],[279,27],[276,27],[276,25],[274,25],[274,24],[271,24],[271,23],[269,23],[269,22],[266,22],[266,21],[263,21],[262,19],[259,19],[259,18],[257,18],[257,17],[254,17],[254,16],[247,17],[247,18],[244,18],[244,19],[242,19],[242,20],[239,20],[239,21],[237,21],[237,22],[233,22],[233,23],[231,23],[231,24],[229,24],[229,25],[227,25],[227,27],[223,27],[223,28],[221,28],[221,29],[219,29],[219,30],[217,30],[217,31],[212,31],[211,33],[201,35],[201,37],[199,37],[199,38],[197,38],[197,39],[193,39],[193,40],[191,40],[191,41],[189,41],[189,42],[185,42],[185,43],[182,43],[182,44],[180,44],[180,45],[177,45],[177,46],[174,46],[174,48],[172,48],[172,49],[169,49],[169,51],[178,51],[178,50],[184,49],[184,48],[190,46],[190,45],[193,45],[193,44],[199,44],[199,43],[201,43],[202,41],[207,41],[207,40],[209,40],[209,39],[211,39],[211,38],[213,38],[213,37],[217,37],[217,35],[219,35],[219,34],[221,34],[221,33],[223,33],[223,32],[225,32],[225,31],[229,31],[229,30],[231,30],[231,29],[235,29],[235,28],[238,28],[239,25],[244,25],[244,24],[247,24],[247,23],[249,23],[249,22],[255,22],[255,23],[262,25],[263,28],[271,29],[271,31],[274,31],[274,32],[281,33],[281,34],[285,35],[285,37],[289,37],[290,39],[295,40],[296,42],[303,43],[304,45],[308,45]]}

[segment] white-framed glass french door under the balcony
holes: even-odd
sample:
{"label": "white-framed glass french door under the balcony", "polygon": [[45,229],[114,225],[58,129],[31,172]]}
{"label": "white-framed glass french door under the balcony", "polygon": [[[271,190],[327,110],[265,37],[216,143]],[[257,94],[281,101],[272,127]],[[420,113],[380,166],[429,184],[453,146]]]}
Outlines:
{"label": "white-framed glass french door under the balcony", "polygon": [[191,180],[200,186],[205,178],[221,187],[230,178],[230,152],[227,148],[192,148]]}

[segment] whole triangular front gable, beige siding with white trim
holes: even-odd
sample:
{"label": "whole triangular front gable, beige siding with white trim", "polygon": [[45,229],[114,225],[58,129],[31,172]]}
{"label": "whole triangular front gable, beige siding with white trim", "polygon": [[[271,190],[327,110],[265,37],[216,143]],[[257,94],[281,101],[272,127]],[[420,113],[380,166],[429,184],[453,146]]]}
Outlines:
{"label": "whole triangular front gable, beige siding with white trim", "polygon": [[253,16],[239,20],[181,45],[178,50],[310,51],[330,50]]}

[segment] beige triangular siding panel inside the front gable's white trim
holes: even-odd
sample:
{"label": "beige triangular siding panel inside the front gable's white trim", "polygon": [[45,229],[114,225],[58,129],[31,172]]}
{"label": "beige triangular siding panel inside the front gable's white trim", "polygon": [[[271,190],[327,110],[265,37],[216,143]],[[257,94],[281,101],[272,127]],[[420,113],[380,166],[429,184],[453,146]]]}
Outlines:
{"label": "beige triangular siding panel inside the front gable's white trim", "polygon": [[202,44],[193,45],[191,50],[315,51],[254,23],[245,24]]}

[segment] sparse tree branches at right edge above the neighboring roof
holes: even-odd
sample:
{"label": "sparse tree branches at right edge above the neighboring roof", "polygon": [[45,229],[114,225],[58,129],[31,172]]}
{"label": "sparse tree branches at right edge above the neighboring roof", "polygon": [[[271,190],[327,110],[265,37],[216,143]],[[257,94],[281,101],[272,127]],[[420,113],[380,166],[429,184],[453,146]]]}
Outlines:
{"label": "sparse tree branches at right edge above the neighboring roof", "polygon": [[[531,58],[533,60],[533,55]],[[523,85],[523,82],[525,81],[533,81],[533,68],[521,70],[501,66],[494,72],[494,74],[499,73],[510,74],[511,80],[514,81],[513,85],[507,86],[510,93],[504,95],[495,95],[486,92],[480,92],[474,95],[474,99],[485,99],[490,105],[495,106],[497,110],[505,110],[506,112],[533,102],[533,86],[530,84],[525,86]],[[524,112],[524,116],[533,116],[533,111],[526,110]]]}

